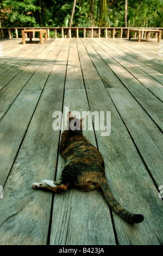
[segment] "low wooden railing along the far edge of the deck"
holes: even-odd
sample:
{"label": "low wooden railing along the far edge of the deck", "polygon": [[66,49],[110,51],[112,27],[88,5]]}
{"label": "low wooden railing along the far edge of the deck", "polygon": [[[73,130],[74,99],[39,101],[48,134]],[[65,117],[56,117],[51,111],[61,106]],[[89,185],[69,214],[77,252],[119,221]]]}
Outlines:
{"label": "low wooden railing along the far edge of the deck", "polygon": [[[42,29],[47,29],[47,36],[48,38],[53,37],[53,38],[66,38],[67,35],[69,38],[71,37],[98,37],[100,38],[105,37],[112,37],[115,38],[116,33],[118,32],[118,37],[119,38],[129,38],[129,29],[127,27],[72,27],[72,28],[67,28],[67,27],[38,27]],[[136,28],[136,27],[135,27]],[[21,37],[21,31],[23,29],[34,29],[34,27],[14,27],[14,28],[1,28],[1,33],[0,33],[0,38],[19,38]],[[36,29],[36,28],[35,28]],[[138,29],[138,28],[137,28]],[[139,28],[142,29],[141,33],[141,38],[145,38],[146,32],[143,31],[143,29],[147,28]],[[151,29],[161,29],[162,30],[162,36],[163,36],[163,28],[151,28]],[[80,33],[80,32],[83,33]],[[13,33],[14,32],[14,33]],[[154,33],[149,34],[149,38],[153,37]],[[157,36],[157,35],[155,35]],[[35,32],[33,32],[33,38],[35,38]],[[136,33],[134,35],[134,38],[136,38]],[[161,37],[162,38],[162,37]]]}

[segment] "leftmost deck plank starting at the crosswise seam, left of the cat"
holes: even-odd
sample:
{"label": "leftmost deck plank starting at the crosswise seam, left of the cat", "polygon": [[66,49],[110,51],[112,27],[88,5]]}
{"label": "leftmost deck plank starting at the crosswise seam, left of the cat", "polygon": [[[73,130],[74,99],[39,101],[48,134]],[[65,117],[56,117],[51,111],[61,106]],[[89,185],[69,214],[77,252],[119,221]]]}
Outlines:
{"label": "leftmost deck plank starting at the crosswise seam, left of the cat", "polygon": [[39,90],[28,90],[26,92],[22,92],[12,104],[3,120],[1,120],[1,186],[4,186],[4,183],[8,178],[40,94],[41,92]]}

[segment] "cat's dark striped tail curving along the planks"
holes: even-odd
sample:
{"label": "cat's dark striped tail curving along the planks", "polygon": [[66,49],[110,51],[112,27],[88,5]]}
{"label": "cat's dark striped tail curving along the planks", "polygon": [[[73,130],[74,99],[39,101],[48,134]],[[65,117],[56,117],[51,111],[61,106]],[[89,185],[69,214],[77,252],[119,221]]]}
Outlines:
{"label": "cat's dark striped tail curving along the planks", "polygon": [[140,223],[143,221],[144,217],[141,214],[131,214],[131,212],[124,209],[115,199],[114,195],[112,194],[108,181],[104,178],[99,181],[99,185],[102,188],[104,196],[109,203],[111,210],[115,212],[118,216],[124,218],[124,220],[130,223]]}

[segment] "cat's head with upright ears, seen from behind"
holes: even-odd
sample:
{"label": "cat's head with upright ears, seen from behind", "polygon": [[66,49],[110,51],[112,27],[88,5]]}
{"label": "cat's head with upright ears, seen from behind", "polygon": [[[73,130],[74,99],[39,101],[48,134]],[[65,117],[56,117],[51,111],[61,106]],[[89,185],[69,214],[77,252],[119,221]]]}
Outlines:
{"label": "cat's head with upright ears, seen from behind", "polygon": [[73,114],[71,112],[68,112],[66,130],[70,130],[74,133],[82,131],[84,128],[83,120],[84,118],[82,119],[74,118]]}

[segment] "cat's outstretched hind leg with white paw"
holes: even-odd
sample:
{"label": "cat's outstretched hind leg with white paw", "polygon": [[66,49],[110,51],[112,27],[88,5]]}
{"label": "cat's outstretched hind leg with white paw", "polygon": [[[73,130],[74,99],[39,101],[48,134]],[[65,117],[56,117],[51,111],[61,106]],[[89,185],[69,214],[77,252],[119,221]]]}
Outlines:
{"label": "cat's outstretched hind leg with white paw", "polygon": [[34,182],[32,184],[33,188],[35,189],[45,189],[45,190],[51,190],[54,192],[62,192],[64,190],[67,190],[68,187],[67,184],[63,184],[62,181],[53,181],[53,180],[42,180],[41,182]]}

